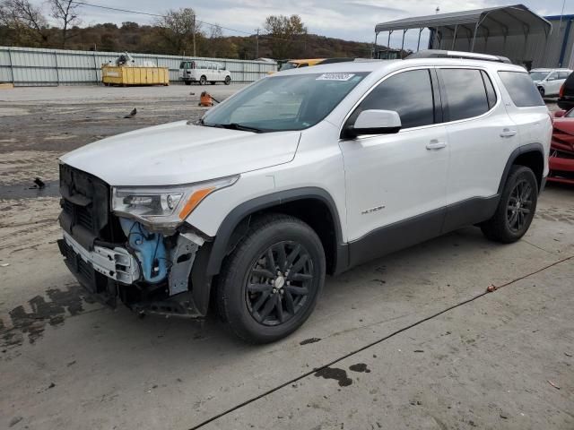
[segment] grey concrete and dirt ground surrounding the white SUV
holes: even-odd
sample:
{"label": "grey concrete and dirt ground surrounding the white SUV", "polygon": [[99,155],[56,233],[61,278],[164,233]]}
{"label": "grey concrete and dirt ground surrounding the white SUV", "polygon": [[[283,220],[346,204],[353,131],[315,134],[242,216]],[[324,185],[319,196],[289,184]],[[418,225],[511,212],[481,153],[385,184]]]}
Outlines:
{"label": "grey concrete and dirt ground surrounding the white SUV", "polygon": [[328,279],[273,345],[84,295],[57,252],[57,157],[198,118],[201,90],[0,90],[0,428],[574,428],[567,187],[547,187],[515,245],[465,228]]}

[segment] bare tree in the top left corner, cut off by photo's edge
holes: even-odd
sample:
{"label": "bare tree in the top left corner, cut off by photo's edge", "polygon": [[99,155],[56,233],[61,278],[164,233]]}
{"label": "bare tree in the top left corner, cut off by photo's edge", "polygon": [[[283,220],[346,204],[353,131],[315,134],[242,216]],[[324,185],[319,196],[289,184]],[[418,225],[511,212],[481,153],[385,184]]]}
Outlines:
{"label": "bare tree in the top left corner, cut off by photo's edge", "polygon": [[48,22],[39,7],[29,0],[4,0],[0,3],[0,25],[11,29],[16,39],[29,37],[48,41]]}

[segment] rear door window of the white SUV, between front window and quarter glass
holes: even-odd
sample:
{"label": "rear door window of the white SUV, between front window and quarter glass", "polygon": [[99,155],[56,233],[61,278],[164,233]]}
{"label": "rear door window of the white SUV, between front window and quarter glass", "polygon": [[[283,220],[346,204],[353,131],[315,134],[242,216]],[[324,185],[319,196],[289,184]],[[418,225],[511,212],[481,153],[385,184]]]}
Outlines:
{"label": "rear door window of the white SUV, between front window and quarter glass", "polygon": [[448,121],[481,116],[488,112],[483,77],[480,70],[440,69],[448,106]]}

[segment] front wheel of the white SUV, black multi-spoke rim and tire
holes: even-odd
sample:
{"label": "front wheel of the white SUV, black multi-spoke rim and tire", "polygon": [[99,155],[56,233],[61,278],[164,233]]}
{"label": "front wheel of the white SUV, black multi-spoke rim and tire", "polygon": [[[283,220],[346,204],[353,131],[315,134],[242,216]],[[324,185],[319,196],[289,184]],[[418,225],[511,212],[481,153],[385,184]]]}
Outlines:
{"label": "front wheel of the white SUV, black multi-spoke rim and tire", "polygon": [[325,268],[321,240],[307,224],[282,214],[257,219],[223,265],[222,320],[248,342],[284,338],[315,308]]}

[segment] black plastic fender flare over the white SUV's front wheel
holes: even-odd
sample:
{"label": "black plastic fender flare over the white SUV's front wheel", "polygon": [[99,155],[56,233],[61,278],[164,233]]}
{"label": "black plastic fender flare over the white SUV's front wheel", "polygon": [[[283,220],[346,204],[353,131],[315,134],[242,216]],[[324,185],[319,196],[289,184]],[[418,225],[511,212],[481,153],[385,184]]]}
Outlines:
{"label": "black plastic fender flare over the white SUV's front wheel", "polygon": [[343,232],[341,221],[339,219],[339,212],[337,211],[335,201],[331,194],[326,192],[325,189],[319,187],[303,187],[293,188],[291,190],[284,190],[276,193],[269,193],[255,199],[249,200],[239,204],[231,210],[223,219],[222,224],[217,229],[217,233],[213,240],[209,259],[205,268],[208,276],[219,274],[223,259],[229,254],[229,245],[232,243],[232,235],[236,228],[245,220],[242,231],[247,232],[248,217],[257,211],[271,209],[274,206],[281,205],[286,202],[294,202],[297,200],[315,199],[326,204],[326,207],[331,212],[331,217],[335,223],[335,236],[337,244],[343,243]]}

